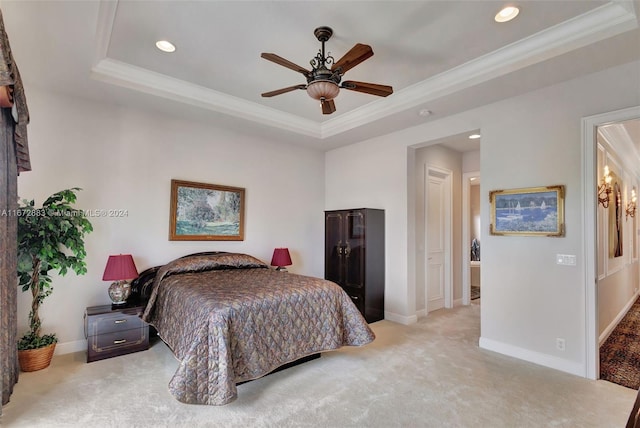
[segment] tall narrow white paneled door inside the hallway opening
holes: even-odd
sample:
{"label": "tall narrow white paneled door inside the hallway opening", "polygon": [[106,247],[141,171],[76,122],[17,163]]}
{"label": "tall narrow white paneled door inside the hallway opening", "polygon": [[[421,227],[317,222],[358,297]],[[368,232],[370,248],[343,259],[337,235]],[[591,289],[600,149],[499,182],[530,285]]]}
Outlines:
{"label": "tall narrow white paneled door inside the hallway opening", "polygon": [[427,313],[451,307],[450,302],[450,175],[427,167],[426,182],[426,307]]}

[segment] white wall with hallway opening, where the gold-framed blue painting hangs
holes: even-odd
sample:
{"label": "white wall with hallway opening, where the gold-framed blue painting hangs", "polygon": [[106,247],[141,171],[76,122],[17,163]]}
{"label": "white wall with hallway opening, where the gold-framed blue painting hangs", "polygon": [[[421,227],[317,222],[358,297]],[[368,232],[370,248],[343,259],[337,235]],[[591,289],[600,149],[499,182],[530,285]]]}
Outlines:
{"label": "white wall with hallway opening, where the gold-framed blue painting hangs", "polygon": [[[407,245],[413,239],[407,231],[415,227],[407,200],[414,171],[407,153],[480,129],[482,195],[566,186],[562,238],[490,236],[489,204],[483,202],[481,346],[584,374],[581,118],[640,104],[640,93],[630,89],[638,87],[638,76],[640,63],[630,63],[327,153],[327,207],[357,201],[386,210],[388,318],[415,320],[415,278],[408,274],[415,254]],[[577,266],[556,265],[557,253],[575,254]],[[565,351],[555,348],[558,337],[566,340]]]}

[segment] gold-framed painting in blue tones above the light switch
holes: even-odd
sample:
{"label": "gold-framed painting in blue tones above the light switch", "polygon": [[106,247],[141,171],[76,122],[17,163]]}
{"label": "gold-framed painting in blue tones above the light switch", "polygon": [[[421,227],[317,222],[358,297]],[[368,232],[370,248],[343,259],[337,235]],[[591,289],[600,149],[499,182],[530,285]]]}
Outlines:
{"label": "gold-framed painting in blue tones above the light switch", "polygon": [[493,190],[492,235],[564,236],[564,186]]}

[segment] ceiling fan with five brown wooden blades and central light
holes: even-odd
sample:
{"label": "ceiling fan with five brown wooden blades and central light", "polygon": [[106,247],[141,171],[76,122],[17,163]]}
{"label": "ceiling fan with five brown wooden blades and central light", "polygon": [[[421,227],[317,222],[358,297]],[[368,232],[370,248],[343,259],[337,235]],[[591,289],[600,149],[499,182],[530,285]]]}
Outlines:
{"label": "ceiling fan with five brown wooden blades and central light", "polygon": [[342,58],[335,61],[331,55],[325,55],[324,43],[331,38],[333,30],[329,27],[318,27],[313,34],[322,43],[322,49],[309,61],[311,70],[307,70],[273,53],[262,53],[260,56],[278,65],[297,71],[307,79],[307,84],[293,85],[271,92],[265,92],[263,97],[273,97],[296,89],[304,89],[313,99],[320,101],[323,114],[331,114],[336,111],[333,101],[340,93],[340,89],[363,92],[365,94],[386,97],[393,93],[393,88],[387,85],[375,83],[356,82],[345,80],[341,83],[342,76],[356,65],[373,56],[373,50],[369,45],[357,43]]}

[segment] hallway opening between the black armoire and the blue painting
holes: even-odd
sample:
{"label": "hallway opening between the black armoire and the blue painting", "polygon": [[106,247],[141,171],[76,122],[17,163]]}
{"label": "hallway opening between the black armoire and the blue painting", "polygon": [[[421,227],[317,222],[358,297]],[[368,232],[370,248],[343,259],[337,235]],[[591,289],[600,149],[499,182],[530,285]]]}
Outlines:
{"label": "hallway opening between the black armoire and the blue painting", "polygon": [[[415,284],[416,317],[427,315],[435,307],[452,308],[463,302],[462,276],[469,247],[462,237],[462,177],[465,171],[480,170],[480,140],[470,138],[477,134],[477,129],[466,131],[410,149],[410,192],[415,195],[410,211],[415,222],[409,239],[415,248],[411,282]],[[447,201],[441,200],[442,186],[450,189]],[[448,213],[441,210],[445,206]],[[447,260],[439,259],[439,250]]]}

